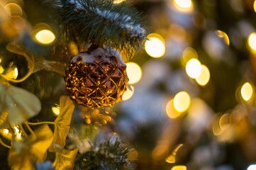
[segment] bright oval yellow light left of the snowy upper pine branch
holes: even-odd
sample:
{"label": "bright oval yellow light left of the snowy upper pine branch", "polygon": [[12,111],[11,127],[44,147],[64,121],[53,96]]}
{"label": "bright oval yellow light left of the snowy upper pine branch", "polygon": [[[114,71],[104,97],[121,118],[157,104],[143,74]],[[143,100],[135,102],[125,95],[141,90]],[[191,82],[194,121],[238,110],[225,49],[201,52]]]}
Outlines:
{"label": "bright oval yellow light left of the snowy upper pine branch", "polygon": [[42,44],[50,44],[55,40],[55,35],[50,30],[40,30],[35,38]]}

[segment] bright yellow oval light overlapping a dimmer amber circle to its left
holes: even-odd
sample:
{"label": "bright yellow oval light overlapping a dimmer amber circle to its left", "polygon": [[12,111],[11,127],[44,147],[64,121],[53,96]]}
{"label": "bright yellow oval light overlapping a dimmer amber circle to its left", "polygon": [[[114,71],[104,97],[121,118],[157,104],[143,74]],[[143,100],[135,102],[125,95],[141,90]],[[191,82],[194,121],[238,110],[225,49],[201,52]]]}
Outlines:
{"label": "bright yellow oval light overlapping a dimmer amber circle to its left", "polygon": [[190,105],[190,97],[189,94],[187,94],[186,91],[181,91],[176,96],[174,96],[174,108],[178,112],[184,112],[187,111],[187,108],[189,108]]}

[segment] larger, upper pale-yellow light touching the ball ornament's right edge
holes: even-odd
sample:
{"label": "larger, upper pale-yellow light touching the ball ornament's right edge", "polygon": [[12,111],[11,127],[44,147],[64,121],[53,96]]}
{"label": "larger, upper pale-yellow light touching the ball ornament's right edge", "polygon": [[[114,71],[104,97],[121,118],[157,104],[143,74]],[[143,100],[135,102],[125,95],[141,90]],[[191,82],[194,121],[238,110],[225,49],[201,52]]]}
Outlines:
{"label": "larger, upper pale-yellow light touching the ball ornament's right edge", "polygon": [[129,78],[128,84],[135,84],[140,81],[142,76],[142,71],[140,66],[134,62],[128,62],[126,64],[126,72]]}

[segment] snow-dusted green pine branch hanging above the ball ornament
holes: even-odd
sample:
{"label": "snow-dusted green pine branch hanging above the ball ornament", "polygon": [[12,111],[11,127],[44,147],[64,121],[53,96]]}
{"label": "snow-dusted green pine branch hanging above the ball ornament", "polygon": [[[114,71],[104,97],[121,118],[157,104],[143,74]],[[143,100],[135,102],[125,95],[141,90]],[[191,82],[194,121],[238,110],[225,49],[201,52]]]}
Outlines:
{"label": "snow-dusted green pine branch hanging above the ball ornament", "polygon": [[[79,44],[109,46],[132,55],[146,39],[140,14],[126,3],[61,0],[62,35]],[[142,24],[140,24],[142,23]]]}

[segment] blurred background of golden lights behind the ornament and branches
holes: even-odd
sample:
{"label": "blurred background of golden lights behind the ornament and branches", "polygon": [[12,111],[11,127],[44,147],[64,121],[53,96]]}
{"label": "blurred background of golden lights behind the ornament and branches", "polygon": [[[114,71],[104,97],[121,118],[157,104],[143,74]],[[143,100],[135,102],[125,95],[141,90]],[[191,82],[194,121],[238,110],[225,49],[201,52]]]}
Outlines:
{"label": "blurred background of golden lights behind the ornament and branches", "polygon": [[[128,3],[150,34],[126,61],[130,88],[112,111],[114,131],[134,147],[137,169],[255,170],[256,1]],[[68,62],[54,22],[30,0],[0,0],[0,24],[0,73],[18,79],[28,69],[23,57],[4,50],[13,40]],[[47,120],[58,112],[63,84],[60,75],[40,71],[17,86],[40,97],[43,116],[35,119]],[[0,151],[5,160],[6,149]]]}

